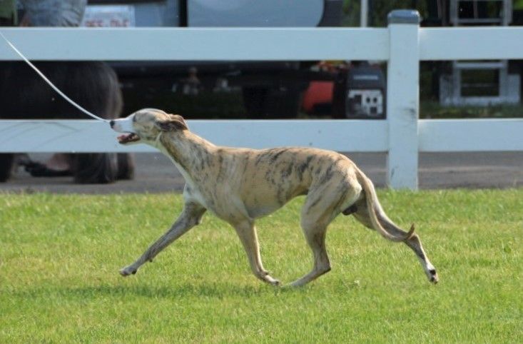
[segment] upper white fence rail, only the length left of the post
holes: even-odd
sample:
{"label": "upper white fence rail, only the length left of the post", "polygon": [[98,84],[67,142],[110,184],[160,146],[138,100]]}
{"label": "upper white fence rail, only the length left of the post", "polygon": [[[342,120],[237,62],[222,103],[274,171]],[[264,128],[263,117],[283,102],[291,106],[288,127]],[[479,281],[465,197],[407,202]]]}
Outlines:
{"label": "upper white fence rail, only the length left of the post", "polygon": [[[387,29],[12,28],[1,29],[30,60],[386,60]],[[19,60],[0,42],[0,60]]]}

